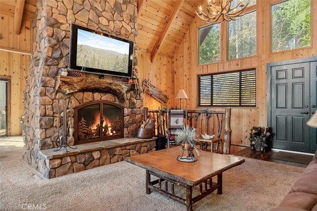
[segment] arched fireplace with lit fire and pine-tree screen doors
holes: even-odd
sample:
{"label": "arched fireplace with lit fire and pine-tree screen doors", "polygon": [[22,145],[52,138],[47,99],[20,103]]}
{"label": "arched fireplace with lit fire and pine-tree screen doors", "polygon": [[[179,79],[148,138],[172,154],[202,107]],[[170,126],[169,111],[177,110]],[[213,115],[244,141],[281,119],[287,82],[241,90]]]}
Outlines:
{"label": "arched fireplace with lit fire and pine-tree screen doors", "polygon": [[74,144],[123,138],[123,107],[108,101],[95,101],[75,107]]}

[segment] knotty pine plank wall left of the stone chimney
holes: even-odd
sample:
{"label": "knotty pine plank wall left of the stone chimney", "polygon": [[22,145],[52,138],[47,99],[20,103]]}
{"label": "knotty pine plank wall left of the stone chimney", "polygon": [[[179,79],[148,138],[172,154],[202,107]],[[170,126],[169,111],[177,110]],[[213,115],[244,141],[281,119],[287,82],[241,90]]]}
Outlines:
{"label": "knotty pine plank wall left of the stone chimney", "polygon": [[30,20],[22,20],[21,32],[14,34],[13,16],[1,13],[0,78],[9,81],[8,135],[22,134],[23,91],[29,73],[33,46],[33,29]]}

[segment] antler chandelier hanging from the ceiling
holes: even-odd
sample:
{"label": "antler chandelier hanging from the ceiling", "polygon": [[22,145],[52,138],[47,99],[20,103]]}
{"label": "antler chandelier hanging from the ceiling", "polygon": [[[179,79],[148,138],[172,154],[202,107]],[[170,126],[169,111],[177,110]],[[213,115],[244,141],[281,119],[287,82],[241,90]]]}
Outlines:
{"label": "antler chandelier hanging from the ceiling", "polygon": [[[211,2],[212,1],[212,2]],[[231,8],[233,0],[208,0],[207,14],[203,12],[202,6],[198,7],[196,12],[198,17],[207,23],[221,23],[223,21],[237,20],[237,17],[242,16],[241,13],[247,8],[249,1],[244,5],[242,0],[235,7]]]}

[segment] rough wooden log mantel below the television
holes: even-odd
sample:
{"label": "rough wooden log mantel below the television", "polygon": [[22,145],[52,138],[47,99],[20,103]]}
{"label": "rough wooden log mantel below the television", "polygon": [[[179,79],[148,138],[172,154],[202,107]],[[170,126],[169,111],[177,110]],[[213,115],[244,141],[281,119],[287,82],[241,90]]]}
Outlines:
{"label": "rough wooden log mantel below the television", "polygon": [[133,83],[86,77],[57,76],[56,90],[64,94],[75,92],[104,92],[117,96],[120,103],[127,100],[126,93],[134,90]]}

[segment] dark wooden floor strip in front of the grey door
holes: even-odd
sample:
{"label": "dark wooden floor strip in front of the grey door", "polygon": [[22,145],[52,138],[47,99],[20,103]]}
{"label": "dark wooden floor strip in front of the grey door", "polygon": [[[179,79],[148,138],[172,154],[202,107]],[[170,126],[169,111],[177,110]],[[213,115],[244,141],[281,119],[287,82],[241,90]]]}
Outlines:
{"label": "dark wooden floor strip in front of the grey door", "polygon": [[294,165],[294,166],[300,166],[300,167],[306,167],[307,164],[303,163],[297,163],[297,162],[289,162],[289,161],[284,161],[284,160],[278,160],[278,159],[273,159],[272,156],[277,154],[278,151],[268,151],[268,152],[257,152],[257,151],[252,151],[250,147],[247,147],[237,153],[235,153],[235,156],[241,156],[245,158],[254,158],[254,159],[261,159],[261,160],[266,160],[270,162],[276,162],[276,163],[282,163],[282,164],[287,164],[287,165]]}

